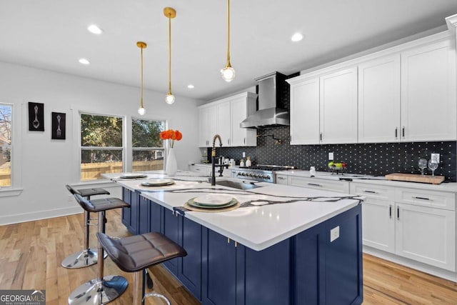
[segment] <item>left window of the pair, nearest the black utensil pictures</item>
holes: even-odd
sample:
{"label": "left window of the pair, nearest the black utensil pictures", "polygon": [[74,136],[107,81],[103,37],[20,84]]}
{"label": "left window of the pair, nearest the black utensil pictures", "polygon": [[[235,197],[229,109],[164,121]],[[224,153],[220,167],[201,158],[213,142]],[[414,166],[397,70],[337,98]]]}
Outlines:
{"label": "left window of the pair, nearest the black utensil pictures", "polygon": [[124,171],[123,119],[81,114],[81,181]]}

